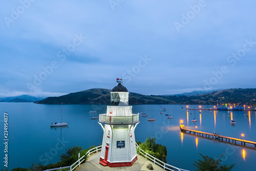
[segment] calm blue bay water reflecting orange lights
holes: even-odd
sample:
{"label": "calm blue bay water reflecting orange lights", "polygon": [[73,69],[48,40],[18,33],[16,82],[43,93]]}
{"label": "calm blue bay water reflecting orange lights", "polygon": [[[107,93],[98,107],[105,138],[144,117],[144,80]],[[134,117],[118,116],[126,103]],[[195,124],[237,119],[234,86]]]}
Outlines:
{"label": "calm blue bay water reflecting orange lights", "polygon": [[[200,157],[199,153],[213,158],[223,155],[223,164],[236,163],[233,170],[255,170],[256,148],[253,145],[232,145],[224,140],[212,140],[180,132],[179,122],[184,120],[188,129],[196,129],[208,133],[220,133],[223,136],[256,141],[256,114],[251,111],[249,117],[244,112],[227,111],[186,111],[186,105],[163,105],[173,119],[167,119],[159,114],[161,105],[134,105],[133,113],[145,112],[148,117],[140,117],[136,127],[137,141],[144,142],[149,136],[155,137],[157,143],[167,147],[167,163],[189,170],[195,170],[193,161]],[[182,109],[183,107],[183,109]],[[212,108],[204,106],[202,108]],[[198,108],[198,105],[189,105]],[[96,110],[97,114],[89,114]],[[4,140],[4,112],[8,113],[9,167],[29,167],[33,163],[50,164],[59,161],[59,155],[66,148],[74,145],[88,148],[101,145],[103,131],[98,120],[93,116],[106,112],[106,105],[63,105],[63,122],[69,122],[68,127],[51,128],[50,123],[61,120],[61,105],[46,105],[34,103],[0,103],[1,139]],[[212,115],[210,113],[212,112]],[[154,122],[147,121],[152,116]],[[192,113],[190,115],[190,113]],[[236,125],[230,124],[228,114],[236,120]],[[191,120],[196,117],[196,123]],[[197,127],[196,127],[197,126]],[[4,157],[4,144],[1,143],[1,158]],[[1,161],[1,166],[4,166]],[[9,169],[10,170],[10,169]]]}

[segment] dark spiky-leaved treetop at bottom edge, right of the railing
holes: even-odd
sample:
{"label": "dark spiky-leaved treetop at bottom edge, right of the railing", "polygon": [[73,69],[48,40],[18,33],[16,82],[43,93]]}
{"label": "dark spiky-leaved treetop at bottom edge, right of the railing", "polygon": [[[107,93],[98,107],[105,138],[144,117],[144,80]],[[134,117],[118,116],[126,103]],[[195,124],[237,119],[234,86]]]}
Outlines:
{"label": "dark spiky-leaved treetop at bottom edge, right of the railing", "polygon": [[194,166],[197,167],[197,170],[198,171],[212,171],[212,170],[216,170],[216,171],[230,171],[235,164],[232,164],[232,165],[229,165],[229,164],[226,164],[226,165],[221,165],[221,157],[222,155],[220,156],[220,158],[218,158],[217,160],[215,160],[214,158],[212,157],[209,157],[209,156],[204,156],[202,155],[201,153],[199,153],[200,156],[203,158],[203,160],[201,159],[198,159],[198,161],[194,161],[195,163],[193,163]]}

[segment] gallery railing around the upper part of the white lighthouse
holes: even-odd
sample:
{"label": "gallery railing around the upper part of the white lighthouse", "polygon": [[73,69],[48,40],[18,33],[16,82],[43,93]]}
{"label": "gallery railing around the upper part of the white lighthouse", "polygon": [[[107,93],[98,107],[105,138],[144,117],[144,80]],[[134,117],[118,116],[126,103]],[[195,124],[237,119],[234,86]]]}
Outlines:
{"label": "gallery railing around the upper part of the white lighthouse", "polygon": [[106,114],[99,115],[99,122],[106,124],[135,124],[139,122],[139,115],[132,116],[109,116]]}

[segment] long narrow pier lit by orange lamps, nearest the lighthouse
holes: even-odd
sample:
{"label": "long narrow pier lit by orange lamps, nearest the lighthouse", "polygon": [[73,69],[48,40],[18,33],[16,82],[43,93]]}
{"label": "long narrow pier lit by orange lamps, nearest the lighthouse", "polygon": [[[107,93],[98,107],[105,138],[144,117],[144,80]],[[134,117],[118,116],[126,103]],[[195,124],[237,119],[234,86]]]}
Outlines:
{"label": "long narrow pier lit by orange lamps, nearest the lighthouse", "polygon": [[205,137],[208,137],[208,138],[212,138],[212,139],[218,139],[218,140],[222,140],[223,139],[226,141],[226,142],[230,142],[232,141],[232,143],[237,143],[237,141],[241,142],[241,145],[245,145],[246,143],[248,144],[253,144],[254,147],[256,147],[256,142],[253,142],[253,141],[247,141],[247,140],[244,140],[244,139],[238,139],[238,138],[232,138],[232,137],[226,137],[226,136],[222,136],[220,134],[216,134],[216,133],[213,133],[213,134],[210,134],[210,133],[205,133],[205,132],[201,132],[201,131],[196,131],[196,130],[189,130],[189,129],[186,129],[185,128],[185,125],[180,125],[180,130],[187,133],[189,132],[189,134],[194,134],[194,135],[198,135],[198,136],[205,136]]}

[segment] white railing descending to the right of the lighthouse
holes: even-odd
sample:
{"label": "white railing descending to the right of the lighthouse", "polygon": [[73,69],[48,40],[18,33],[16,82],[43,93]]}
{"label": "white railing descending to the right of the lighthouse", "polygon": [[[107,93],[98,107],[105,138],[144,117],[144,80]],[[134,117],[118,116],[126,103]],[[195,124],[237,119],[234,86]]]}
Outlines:
{"label": "white railing descending to the right of the lighthouse", "polygon": [[[178,167],[175,167],[175,166],[172,166],[170,164],[167,164],[167,163],[164,163],[163,161],[151,156],[150,154],[147,154],[146,152],[144,152],[140,147],[139,145],[136,143],[136,147],[139,148],[140,150],[140,154],[142,154],[146,159],[150,159],[152,162],[154,162],[155,164],[157,163],[159,166],[163,167],[163,169],[166,169],[166,170],[172,170],[172,171],[189,171],[189,170],[185,170],[185,169],[182,169],[182,168],[178,168]],[[143,154],[143,153],[144,154]],[[169,168],[170,167],[170,168]],[[175,169],[175,170],[174,170]]]}

